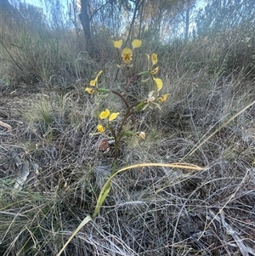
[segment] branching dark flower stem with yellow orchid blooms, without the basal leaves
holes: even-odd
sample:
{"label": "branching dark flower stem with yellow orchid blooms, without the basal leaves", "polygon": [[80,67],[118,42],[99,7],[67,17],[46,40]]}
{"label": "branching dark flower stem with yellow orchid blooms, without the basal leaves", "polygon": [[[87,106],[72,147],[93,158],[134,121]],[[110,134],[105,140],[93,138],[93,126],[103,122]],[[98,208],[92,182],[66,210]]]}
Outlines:
{"label": "branching dark flower stem with yellow orchid blooms, without the basal leaves", "polygon": [[[114,41],[115,48],[122,48],[123,41],[118,40]],[[133,67],[133,50],[135,48],[139,48],[142,45],[142,41],[139,39],[134,39],[132,42],[131,48],[123,48],[121,52],[122,63],[117,65],[120,69],[129,69]],[[113,171],[116,171],[116,160],[118,156],[119,146],[121,140],[126,136],[138,135],[139,139],[145,139],[144,131],[130,131],[125,129],[125,123],[134,113],[138,111],[144,111],[149,108],[161,108],[161,104],[167,100],[167,96],[169,94],[160,94],[161,88],[163,88],[163,82],[161,78],[156,77],[156,74],[159,71],[159,67],[156,66],[158,59],[157,54],[146,54],[148,61],[148,69],[146,71],[141,71],[139,73],[134,74],[132,77],[127,77],[126,87],[123,93],[116,92],[112,89],[101,88],[99,87],[99,76],[103,73],[103,71],[99,71],[97,76],[89,82],[89,87],[85,88],[85,91],[88,94],[115,94],[116,97],[120,98],[124,103],[124,107],[120,112],[111,112],[108,108],[104,111],[101,111],[99,114],[99,124],[97,125],[97,131],[99,134],[105,134],[107,131],[110,132],[111,138],[114,141],[114,162],[113,162]],[[142,82],[152,82],[155,89],[149,92],[148,97],[146,99],[136,100],[135,102],[130,102],[128,100],[128,88],[131,82],[134,79],[140,76],[146,76],[146,78]],[[113,122],[119,122],[117,125],[113,125]]]}

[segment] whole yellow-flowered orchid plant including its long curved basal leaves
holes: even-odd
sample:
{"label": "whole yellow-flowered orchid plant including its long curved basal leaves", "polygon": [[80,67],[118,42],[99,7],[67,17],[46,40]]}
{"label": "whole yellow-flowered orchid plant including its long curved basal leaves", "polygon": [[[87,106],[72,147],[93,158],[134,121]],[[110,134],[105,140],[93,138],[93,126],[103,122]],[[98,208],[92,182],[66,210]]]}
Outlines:
{"label": "whole yellow-flowered orchid plant including its long curved basal leaves", "polygon": [[[122,39],[119,41],[114,42],[114,47],[121,48],[122,47]],[[138,39],[134,39],[132,42],[133,48],[139,48],[141,46],[142,42]],[[109,195],[109,192],[111,191],[111,180],[116,177],[117,174],[122,174],[123,172],[126,172],[127,170],[130,170],[132,168],[144,168],[144,167],[168,167],[168,168],[184,168],[184,169],[190,169],[190,170],[199,170],[201,171],[202,168],[189,164],[189,163],[180,163],[180,162],[173,162],[173,163],[140,163],[140,164],[134,164],[131,166],[128,166],[126,168],[121,168],[118,171],[116,171],[116,160],[117,160],[117,152],[119,150],[120,141],[128,135],[138,135],[139,139],[145,139],[145,133],[144,132],[136,132],[136,131],[130,131],[126,130],[124,128],[125,122],[127,122],[128,118],[131,117],[134,113],[138,111],[144,111],[148,107],[149,108],[159,108],[161,109],[161,103],[165,102],[167,100],[167,96],[169,94],[160,94],[161,88],[163,87],[163,82],[161,81],[161,78],[156,78],[156,74],[159,70],[159,67],[155,67],[157,63],[157,54],[146,54],[147,60],[148,60],[148,70],[141,71],[133,77],[130,77],[127,79],[127,85],[125,88],[124,93],[118,93],[111,89],[106,88],[99,88],[99,76],[102,74],[103,71],[99,71],[97,76],[94,78],[94,80],[91,80],[89,85],[89,88],[85,88],[85,91],[88,94],[115,94],[116,97],[119,97],[124,102],[125,108],[124,110],[120,112],[111,112],[108,108],[105,109],[105,111],[101,111],[99,114],[99,124],[97,125],[97,131],[99,134],[105,134],[107,131],[110,132],[111,137],[114,139],[114,145],[115,145],[115,156],[114,156],[114,162],[113,162],[113,170],[111,173],[110,178],[108,178],[105,182],[105,185],[103,185],[99,196],[97,198],[96,206],[94,208],[93,216],[87,216],[85,219],[82,220],[81,224],[77,227],[77,229],[72,233],[71,237],[68,239],[67,242],[65,242],[64,247],[61,248],[59,253],[60,255],[62,252],[64,252],[65,247],[68,245],[69,242],[71,242],[72,238],[77,235],[78,231],[82,229],[84,225],[86,225],[89,221],[93,220],[97,217],[99,214],[99,210],[102,207],[103,203],[105,202],[106,197]],[[122,65],[117,65],[118,68],[127,68],[129,69],[133,65],[131,64],[131,61],[133,60],[133,51],[131,48],[123,48],[122,49]],[[155,90],[150,91],[148,94],[148,98],[137,100],[134,103],[129,103],[127,100],[127,94],[128,94],[128,87],[130,83],[133,81],[135,77],[139,76],[145,76],[148,77],[144,79],[144,82],[153,82],[155,86]],[[122,116],[122,119],[120,119],[119,125],[116,125],[116,129],[112,125],[113,121],[118,121],[119,117]]]}

